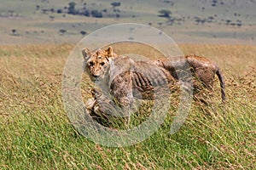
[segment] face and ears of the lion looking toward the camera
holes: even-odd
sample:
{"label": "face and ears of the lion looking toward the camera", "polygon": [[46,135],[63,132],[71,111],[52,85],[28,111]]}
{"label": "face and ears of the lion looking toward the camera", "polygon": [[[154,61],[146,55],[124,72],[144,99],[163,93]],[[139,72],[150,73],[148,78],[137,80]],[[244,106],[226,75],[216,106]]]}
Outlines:
{"label": "face and ears of the lion looking toward the camera", "polygon": [[113,55],[113,49],[109,47],[107,50],[98,49],[90,52],[84,48],[84,71],[90,76],[90,80],[99,81],[106,77],[109,68],[109,59]]}

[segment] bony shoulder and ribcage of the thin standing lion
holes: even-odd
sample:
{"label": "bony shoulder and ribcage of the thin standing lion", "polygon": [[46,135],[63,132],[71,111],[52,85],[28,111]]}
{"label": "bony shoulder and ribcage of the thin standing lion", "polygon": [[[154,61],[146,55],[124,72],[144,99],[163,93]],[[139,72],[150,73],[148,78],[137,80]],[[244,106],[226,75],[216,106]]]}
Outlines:
{"label": "bony shoulder and ribcage of the thin standing lion", "polygon": [[148,61],[120,57],[112,62],[109,83],[114,96],[133,94],[137,97],[137,91],[148,95],[154,88],[165,87],[172,80],[168,71]]}

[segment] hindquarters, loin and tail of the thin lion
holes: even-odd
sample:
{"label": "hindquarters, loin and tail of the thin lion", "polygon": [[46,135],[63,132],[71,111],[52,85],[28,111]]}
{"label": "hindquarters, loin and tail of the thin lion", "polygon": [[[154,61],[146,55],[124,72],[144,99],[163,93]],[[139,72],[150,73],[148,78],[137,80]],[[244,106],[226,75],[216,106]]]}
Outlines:
{"label": "hindquarters, loin and tail of the thin lion", "polygon": [[[224,76],[218,65],[211,59],[197,55],[186,55],[185,57],[156,59],[153,61],[153,63],[165,68],[167,71],[170,71],[174,79],[181,79],[182,81],[183,73],[180,71],[184,71],[184,69],[188,68],[189,65],[189,70],[191,71],[192,77],[194,77],[192,80],[192,86],[194,88],[195,94],[201,91],[201,85],[212,91],[214,78],[215,75],[217,75],[221,88],[222,102],[225,102],[226,97]],[[187,80],[185,79],[184,81]]]}

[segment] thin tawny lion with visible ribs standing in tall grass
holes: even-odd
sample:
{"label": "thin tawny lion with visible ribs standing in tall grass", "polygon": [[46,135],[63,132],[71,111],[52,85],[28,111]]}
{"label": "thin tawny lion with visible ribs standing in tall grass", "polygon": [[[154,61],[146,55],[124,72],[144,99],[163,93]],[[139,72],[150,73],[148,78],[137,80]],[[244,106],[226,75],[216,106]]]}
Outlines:
{"label": "thin tawny lion with visible ribs standing in tall grass", "polygon": [[[129,108],[134,98],[154,99],[155,87],[164,87],[166,84],[170,87],[177,80],[179,82],[192,81],[192,88],[195,92],[201,90],[201,84],[212,90],[215,74],[220,81],[222,99],[225,100],[222,72],[217,64],[204,57],[188,55],[134,61],[129,57],[114,54],[112,47],[95,51],[84,48],[82,54],[84,71],[88,73],[90,80],[96,82],[100,88],[107,89],[104,93],[94,93],[93,99],[87,102],[86,108],[90,115],[108,115],[107,113],[113,109],[113,99],[116,99],[123,108],[124,115],[122,116],[127,118],[126,123],[129,124],[131,116]],[[191,77],[188,72],[191,72]]]}

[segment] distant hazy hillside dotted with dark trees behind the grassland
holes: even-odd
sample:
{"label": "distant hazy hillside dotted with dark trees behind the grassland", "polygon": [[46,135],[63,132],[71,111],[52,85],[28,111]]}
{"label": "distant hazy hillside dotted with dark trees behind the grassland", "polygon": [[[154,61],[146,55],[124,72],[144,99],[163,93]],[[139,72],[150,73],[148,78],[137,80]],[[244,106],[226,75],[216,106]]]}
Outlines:
{"label": "distant hazy hillside dotted with dark trees behind the grassland", "polygon": [[154,26],[176,42],[254,43],[255,8],[253,0],[2,1],[0,43],[76,43],[124,22]]}

